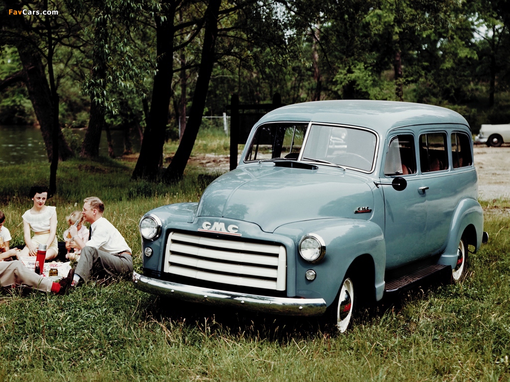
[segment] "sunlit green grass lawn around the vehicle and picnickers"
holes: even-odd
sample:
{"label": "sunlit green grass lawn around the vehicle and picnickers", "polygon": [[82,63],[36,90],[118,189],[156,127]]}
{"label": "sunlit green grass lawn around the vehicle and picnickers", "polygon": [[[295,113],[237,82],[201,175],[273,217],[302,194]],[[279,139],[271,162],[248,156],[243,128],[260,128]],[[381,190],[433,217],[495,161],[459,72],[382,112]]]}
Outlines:
{"label": "sunlit green grass lawn around the vehicle and picnickers", "polygon": [[[75,159],[59,165],[58,233],[83,198],[105,202],[141,267],[138,222],[162,204],[197,201],[190,170],[168,186],[130,180],[133,163]],[[12,244],[49,165],[2,169],[0,209]],[[0,295],[0,380],[501,381],[510,380],[510,203],[482,202],[490,241],[471,254],[460,285],[432,285],[387,301],[347,335],[316,319],[215,310],[138,291],[129,281],[90,283],[67,296]]]}

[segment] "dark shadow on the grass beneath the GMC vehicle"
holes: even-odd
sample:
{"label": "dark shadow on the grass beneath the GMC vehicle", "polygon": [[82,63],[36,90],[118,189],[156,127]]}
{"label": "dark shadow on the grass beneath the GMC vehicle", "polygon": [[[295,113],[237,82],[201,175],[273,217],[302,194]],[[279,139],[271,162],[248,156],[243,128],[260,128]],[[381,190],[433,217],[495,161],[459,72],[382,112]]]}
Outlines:
{"label": "dark shadow on the grass beneath the GMC vehicle", "polygon": [[[351,328],[370,325],[372,320],[388,311],[400,311],[416,299],[427,299],[438,288],[450,284],[449,279],[431,279],[399,292],[387,293],[378,303],[359,312]],[[243,337],[252,340],[267,340],[281,344],[297,339],[336,337],[339,334],[334,322],[325,322],[323,317],[289,317],[261,312],[249,312],[232,308],[219,308],[180,300],[151,296],[145,299],[143,309],[146,318],[158,322],[170,320],[192,331]],[[351,331],[349,329],[348,331]]]}

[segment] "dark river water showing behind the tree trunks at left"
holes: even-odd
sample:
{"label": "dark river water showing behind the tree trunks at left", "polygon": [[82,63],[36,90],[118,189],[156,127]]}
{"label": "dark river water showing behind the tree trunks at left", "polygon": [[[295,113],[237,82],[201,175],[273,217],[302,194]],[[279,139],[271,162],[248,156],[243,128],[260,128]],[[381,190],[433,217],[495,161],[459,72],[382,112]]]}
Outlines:
{"label": "dark river water showing behind the tree trunks at left", "polygon": [[[85,130],[73,129],[73,132],[85,137]],[[116,156],[124,151],[123,131],[112,130],[113,151]],[[140,151],[140,139],[137,133],[131,134],[133,151]],[[99,155],[108,155],[106,132],[101,134]],[[46,148],[41,130],[34,126],[0,125],[0,164],[27,163],[34,160],[47,161]]]}

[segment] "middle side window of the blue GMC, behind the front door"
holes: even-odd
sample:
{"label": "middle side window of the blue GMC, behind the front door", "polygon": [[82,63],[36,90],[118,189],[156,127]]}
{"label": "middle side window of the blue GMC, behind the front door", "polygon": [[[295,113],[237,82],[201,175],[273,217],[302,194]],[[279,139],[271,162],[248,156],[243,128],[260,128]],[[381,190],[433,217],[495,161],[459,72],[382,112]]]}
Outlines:
{"label": "middle side window of the blue GMC, behind the front door", "polygon": [[420,135],[420,168],[422,173],[448,169],[448,143],[443,132]]}

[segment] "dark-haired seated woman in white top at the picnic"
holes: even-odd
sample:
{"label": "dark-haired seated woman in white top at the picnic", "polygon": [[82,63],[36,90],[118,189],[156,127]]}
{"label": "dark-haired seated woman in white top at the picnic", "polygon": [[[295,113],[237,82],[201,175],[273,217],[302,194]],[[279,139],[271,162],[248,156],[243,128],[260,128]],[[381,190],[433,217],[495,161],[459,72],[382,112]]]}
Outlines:
{"label": "dark-haired seated woman in white top at the picnic", "polygon": [[[23,218],[23,236],[25,247],[17,257],[36,256],[39,244],[46,244],[46,260],[57,257],[57,210],[54,206],[46,206],[48,189],[43,186],[34,186],[30,189],[30,198],[34,206],[25,211]],[[30,237],[30,233],[34,236]]]}

